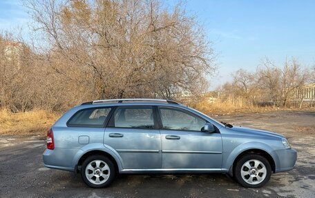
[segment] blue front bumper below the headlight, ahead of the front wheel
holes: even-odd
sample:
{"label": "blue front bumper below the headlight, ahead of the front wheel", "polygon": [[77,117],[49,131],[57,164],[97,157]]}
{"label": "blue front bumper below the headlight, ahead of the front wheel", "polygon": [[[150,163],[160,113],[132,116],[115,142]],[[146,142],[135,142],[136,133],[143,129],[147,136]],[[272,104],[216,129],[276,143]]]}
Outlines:
{"label": "blue front bumper below the headlight, ahead of the front wheel", "polygon": [[276,150],[275,152],[279,159],[275,172],[285,172],[294,168],[297,158],[297,152],[294,148]]}

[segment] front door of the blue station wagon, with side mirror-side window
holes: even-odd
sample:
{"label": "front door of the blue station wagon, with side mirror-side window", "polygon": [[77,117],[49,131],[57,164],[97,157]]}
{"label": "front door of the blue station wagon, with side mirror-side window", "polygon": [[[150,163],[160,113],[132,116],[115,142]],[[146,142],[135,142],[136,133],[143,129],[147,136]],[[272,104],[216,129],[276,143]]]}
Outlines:
{"label": "front door of the blue station wagon, with side mirror-side window", "polygon": [[202,132],[206,120],[182,108],[158,107],[162,168],[220,169],[220,132]]}

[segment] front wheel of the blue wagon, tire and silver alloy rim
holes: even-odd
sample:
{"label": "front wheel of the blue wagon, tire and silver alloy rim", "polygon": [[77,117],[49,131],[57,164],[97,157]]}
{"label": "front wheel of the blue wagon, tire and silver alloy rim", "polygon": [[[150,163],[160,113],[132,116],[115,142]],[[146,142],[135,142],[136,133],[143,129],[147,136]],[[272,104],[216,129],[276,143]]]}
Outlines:
{"label": "front wheel of the blue wagon, tire and silver alloy rim", "polygon": [[271,166],[265,157],[249,154],[238,160],[233,175],[244,187],[260,188],[269,181]]}

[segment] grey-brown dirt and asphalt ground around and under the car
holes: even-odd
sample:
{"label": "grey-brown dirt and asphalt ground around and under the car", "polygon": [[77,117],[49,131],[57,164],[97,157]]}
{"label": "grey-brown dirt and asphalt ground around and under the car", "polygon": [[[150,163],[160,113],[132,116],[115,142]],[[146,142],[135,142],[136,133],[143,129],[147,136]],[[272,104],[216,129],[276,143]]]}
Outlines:
{"label": "grey-brown dirt and asphalt ground around and under the car", "polygon": [[73,172],[45,168],[44,140],[0,137],[0,197],[315,197],[315,112],[278,111],[213,116],[218,121],[287,136],[298,150],[294,170],[271,175],[262,188],[243,188],[227,175],[120,175],[88,188]]}

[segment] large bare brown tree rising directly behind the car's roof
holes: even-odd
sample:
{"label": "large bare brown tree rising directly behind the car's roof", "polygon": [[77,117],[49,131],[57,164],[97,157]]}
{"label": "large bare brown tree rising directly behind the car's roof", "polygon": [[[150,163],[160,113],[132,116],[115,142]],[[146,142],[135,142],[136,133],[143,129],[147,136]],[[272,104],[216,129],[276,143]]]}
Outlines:
{"label": "large bare brown tree rising directly behind the car's roof", "polygon": [[207,88],[211,43],[181,3],[171,11],[160,1],[25,4],[51,46],[46,61],[55,75],[86,88],[79,99],[173,98]]}

